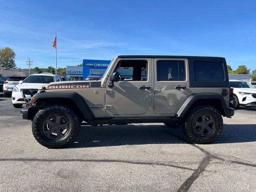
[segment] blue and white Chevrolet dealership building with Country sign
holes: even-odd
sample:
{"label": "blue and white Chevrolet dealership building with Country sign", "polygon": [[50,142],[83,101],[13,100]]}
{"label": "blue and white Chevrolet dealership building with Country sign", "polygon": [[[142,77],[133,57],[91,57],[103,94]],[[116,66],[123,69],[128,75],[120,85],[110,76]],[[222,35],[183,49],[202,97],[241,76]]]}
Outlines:
{"label": "blue and white Chevrolet dealership building with Country sign", "polygon": [[87,76],[102,76],[108,65],[110,64],[110,60],[83,60],[83,66],[67,66],[66,74],[72,80],[83,80]]}

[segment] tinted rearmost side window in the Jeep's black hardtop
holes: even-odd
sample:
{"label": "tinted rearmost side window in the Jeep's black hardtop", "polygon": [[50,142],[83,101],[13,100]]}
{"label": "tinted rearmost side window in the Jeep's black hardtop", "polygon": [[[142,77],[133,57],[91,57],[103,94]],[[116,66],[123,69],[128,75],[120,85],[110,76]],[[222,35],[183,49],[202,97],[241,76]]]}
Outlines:
{"label": "tinted rearmost side window in the Jeep's black hardtop", "polygon": [[194,61],[195,81],[224,81],[223,64],[219,61]]}

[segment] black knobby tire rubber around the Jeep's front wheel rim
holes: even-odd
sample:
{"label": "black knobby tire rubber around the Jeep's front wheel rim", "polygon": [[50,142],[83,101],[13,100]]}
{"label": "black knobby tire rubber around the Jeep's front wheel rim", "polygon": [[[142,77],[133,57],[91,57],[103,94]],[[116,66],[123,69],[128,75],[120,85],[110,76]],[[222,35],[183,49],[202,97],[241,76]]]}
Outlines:
{"label": "black knobby tire rubber around the Jeep's front wheel rim", "polygon": [[[68,121],[69,130],[67,134],[60,139],[51,139],[44,133],[44,121],[51,115],[63,116]],[[37,142],[42,146],[47,148],[60,148],[67,146],[76,139],[80,131],[80,126],[80,119],[72,109],[64,105],[55,104],[46,106],[36,113],[32,122],[32,133]]]}

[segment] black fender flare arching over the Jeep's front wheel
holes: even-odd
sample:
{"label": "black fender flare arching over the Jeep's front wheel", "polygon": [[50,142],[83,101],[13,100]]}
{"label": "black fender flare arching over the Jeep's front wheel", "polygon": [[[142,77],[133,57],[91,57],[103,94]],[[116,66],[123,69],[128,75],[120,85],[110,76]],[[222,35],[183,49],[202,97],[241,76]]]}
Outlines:
{"label": "black fender flare arching over the Jeep's front wheel", "polygon": [[35,98],[35,101],[30,100],[30,104],[34,104],[42,100],[60,100],[60,99],[70,99],[76,106],[81,110],[82,114],[86,119],[95,118],[94,114],[90,110],[88,104],[85,102],[84,98],[77,92],[72,91],[58,91],[58,92],[41,92],[35,94],[32,98]]}

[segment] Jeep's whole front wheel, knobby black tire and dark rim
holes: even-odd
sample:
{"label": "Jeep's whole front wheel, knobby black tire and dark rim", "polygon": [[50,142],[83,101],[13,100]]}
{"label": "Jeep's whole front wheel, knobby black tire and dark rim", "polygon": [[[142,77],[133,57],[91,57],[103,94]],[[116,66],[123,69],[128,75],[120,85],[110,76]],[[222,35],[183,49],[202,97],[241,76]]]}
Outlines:
{"label": "Jeep's whole front wheel, knobby black tire and dark rim", "polygon": [[67,146],[76,139],[80,130],[78,116],[62,105],[46,106],[39,110],[32,122],[36,140],[45,147]]}

